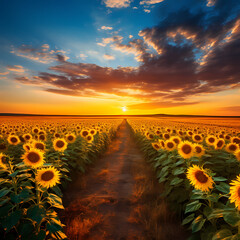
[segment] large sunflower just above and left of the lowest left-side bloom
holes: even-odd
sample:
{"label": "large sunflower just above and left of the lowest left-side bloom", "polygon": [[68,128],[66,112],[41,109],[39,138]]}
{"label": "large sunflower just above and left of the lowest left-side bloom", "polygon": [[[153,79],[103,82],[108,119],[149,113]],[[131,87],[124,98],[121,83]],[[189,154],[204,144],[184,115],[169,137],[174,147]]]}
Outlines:
{"label": "large sunflower just above and left of the lowest left-side bloom", "polygon": [[31,148],[22,156],[23,162],[30,167],[41,167],[44,163],[43,152],[39,149]]}

